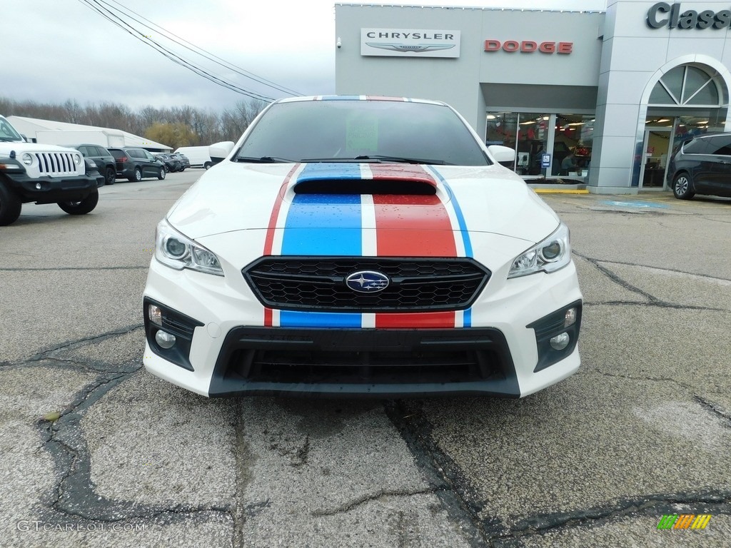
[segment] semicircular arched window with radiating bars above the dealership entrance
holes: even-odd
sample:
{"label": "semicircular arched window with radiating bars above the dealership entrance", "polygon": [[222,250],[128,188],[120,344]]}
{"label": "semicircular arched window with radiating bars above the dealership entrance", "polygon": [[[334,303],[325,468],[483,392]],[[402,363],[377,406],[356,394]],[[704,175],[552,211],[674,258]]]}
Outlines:
{"label": "semicircular arched window with radiating bars above the dealership entrance", "polygon": [[716,83],[718,75],[708,75],[692,65],[676,66],[666,72],[650,94],[651,105],[670,107],[719,107],[722,98]]}

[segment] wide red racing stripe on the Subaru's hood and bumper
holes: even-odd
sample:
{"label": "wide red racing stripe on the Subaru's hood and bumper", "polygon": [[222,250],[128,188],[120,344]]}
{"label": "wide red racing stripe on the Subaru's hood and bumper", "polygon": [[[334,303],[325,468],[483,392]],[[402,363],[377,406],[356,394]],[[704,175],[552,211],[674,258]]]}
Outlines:
{"label": "wide red racing stripe on the Subaru's hood and bumper", "polygon": [[[384,169],[385,168],[385,169]],[[414,165],[404,170],[374,165],[374,179],[398,178],[431,180],[422,167]],[[457,256],[455,235],[447,214],[447,206],[431,194],[400,196],[379,194],[373,197],[376,210],[376,252],[378,256]],[[455,327],[455,313],[377,313],[376,327]]]}

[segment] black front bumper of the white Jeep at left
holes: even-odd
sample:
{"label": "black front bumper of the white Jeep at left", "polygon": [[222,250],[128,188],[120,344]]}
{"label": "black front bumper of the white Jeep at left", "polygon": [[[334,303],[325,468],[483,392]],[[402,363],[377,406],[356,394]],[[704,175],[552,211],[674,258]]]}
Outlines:
{"label": "black front bumper of the white Jeep at left", "polygon": [[39,178],[30,178],[25,173],[6,172],[5,175],[10,188],[18,194],[23,203],[80,202],[98,186],[97,178],[94,175]]}

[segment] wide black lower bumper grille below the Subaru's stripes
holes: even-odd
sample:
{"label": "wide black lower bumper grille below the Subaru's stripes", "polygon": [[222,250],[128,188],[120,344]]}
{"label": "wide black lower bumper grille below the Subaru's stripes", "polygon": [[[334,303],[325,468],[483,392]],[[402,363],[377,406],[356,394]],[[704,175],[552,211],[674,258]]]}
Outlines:
{"label": "wide black lower bumper grille below the Subaru's stripes", "polygon": [[501,332],[234,327],[221,345],[208,391],[374,397],[451,392],[520,395]]}

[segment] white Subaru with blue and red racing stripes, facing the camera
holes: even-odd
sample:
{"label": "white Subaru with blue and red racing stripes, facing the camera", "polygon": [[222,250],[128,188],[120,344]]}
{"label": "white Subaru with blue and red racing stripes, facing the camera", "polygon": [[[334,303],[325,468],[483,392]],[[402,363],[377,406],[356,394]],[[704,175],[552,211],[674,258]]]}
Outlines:
{"label": "white Subaru with blue and red racing stripes, facing the camera", "polygon": [[441,102],[270,104],[158,224],[145,368],[206,396],[523,397],[567,378],[569,229],[514,160]]}

